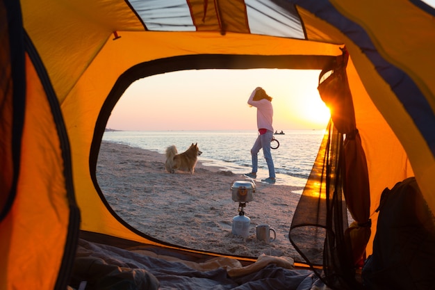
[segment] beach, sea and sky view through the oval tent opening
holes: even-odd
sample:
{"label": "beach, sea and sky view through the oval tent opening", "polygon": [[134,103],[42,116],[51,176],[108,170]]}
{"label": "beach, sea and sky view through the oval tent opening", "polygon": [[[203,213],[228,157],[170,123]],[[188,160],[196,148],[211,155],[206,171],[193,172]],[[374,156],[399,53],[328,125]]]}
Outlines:
{"label": "beach, sea and sky view through the oval tent opening", "polygon": [[[106,124],[97,182],[108,207],[124,223],[164,243],[224,255],[262,253],[303,261],[288,239],[293,211],[318,153],[329,111],[317,91],[319,70],[188,70],[148,76],[124,92]],[[256,86],[273,97],[279,148],[272,150],[277,184],[258,154],[247,239],[231,233],[238,203],[232,182],[247,180],[256,139],[256,110],[247,99]],[[203,152],[195,173],[165,172],[165,148],[191,143]],[[255,226],[276,232],[256,240]],[[321,249],[320,249],[321,250]]]}

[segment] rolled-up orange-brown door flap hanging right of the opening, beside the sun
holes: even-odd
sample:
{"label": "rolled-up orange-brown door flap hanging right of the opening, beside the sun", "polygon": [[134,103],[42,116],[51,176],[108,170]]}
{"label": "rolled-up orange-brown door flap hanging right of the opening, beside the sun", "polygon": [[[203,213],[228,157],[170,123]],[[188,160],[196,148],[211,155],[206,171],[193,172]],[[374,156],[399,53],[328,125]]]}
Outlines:
{"label": "rolled-up orange-brown door flap hanging right of the opening, beside the sun", "polygon": [[[334,126],[338,132],[345,134],[343,152],[340,153],[342,156],[338,157],[343,161],[336,170],[342,171],[343,195],[354,219],[352,227],[345,229],[352,243],[354,264],[362,264],[370,237],[370,182],[366,154],[356,128],[352,94],[345,71],[348,58],[347,50],[343,49],[343,58],[338,58],[334,67],[331,67],[331,75],[319,84],[318,90],[322,100],[331,109]],[[329,67],[325,68],[322,73],[328,69]],[[322,77],[322,73],[319,78]],[[335,174],[334,171],[329,173]]]}

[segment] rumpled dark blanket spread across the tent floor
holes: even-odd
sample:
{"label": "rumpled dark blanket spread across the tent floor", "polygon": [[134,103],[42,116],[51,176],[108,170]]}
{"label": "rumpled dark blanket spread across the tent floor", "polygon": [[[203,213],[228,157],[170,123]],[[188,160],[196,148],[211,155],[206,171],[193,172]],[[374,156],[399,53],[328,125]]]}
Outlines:
{"label": "rumpled dark blanket spread across the tent floor", "polygon": [[[85,287],[83,287],[83,282]],[[76,251],[73,289],[327,289],[313,271],[295,269],[289,257],[261,255],[248,266],[236,259],[215,257],[202,263],[126,250],[81,239]]]}

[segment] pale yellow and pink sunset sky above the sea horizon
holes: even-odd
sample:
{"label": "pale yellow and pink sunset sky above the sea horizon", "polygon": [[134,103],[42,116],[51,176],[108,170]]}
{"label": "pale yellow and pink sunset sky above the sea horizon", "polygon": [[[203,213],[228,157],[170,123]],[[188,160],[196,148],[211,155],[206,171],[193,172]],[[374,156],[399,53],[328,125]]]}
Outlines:
{"label": "pale yellow and pink sunset sky above the sea horizon", "polygon": [[247,105],[261,86],[273,97],[275,130],[325,129],[329,110],[318,70],[188,70],[140,79],[124,92],[106,127],[119,130],[256,130]]}

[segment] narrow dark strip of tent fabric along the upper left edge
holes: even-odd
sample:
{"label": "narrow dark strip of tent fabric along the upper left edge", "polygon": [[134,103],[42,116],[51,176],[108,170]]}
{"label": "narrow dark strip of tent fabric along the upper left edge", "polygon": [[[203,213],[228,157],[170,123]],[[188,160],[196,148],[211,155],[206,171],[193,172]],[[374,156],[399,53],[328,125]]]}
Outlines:
{"label": "narrow dark strip of tent fabric along the upper left edge", "polygon": [[[3,3],[2,3],[3,4]],[[0,220],[6,216],[16,193],[19,172],[20,144],[24,123],[24,100],[26,86],[13,86],[14,83],[26,83],[24,73],[24,47],[20,36],[21,17],[15,17],[9,10],[17,10],[17,3],[8,7],[0,6],[1,43],[6,44],[0,51],[1,58],[1,146],[0,163],[3,174],[0,177]],[[11,49],[16,47],[16,49]]]}

